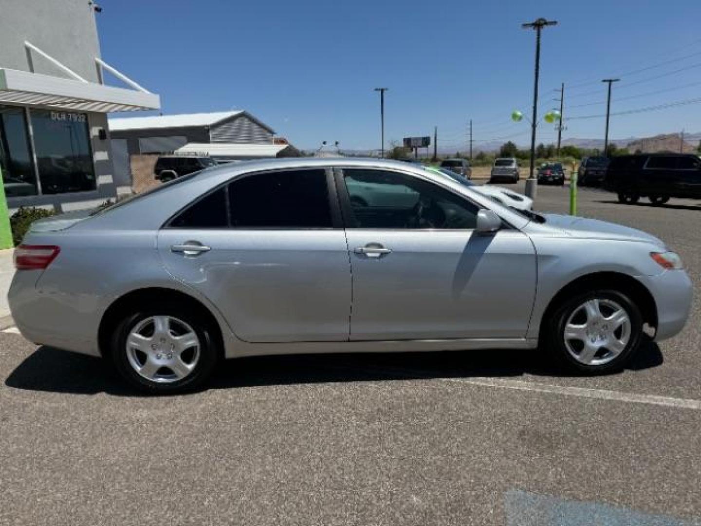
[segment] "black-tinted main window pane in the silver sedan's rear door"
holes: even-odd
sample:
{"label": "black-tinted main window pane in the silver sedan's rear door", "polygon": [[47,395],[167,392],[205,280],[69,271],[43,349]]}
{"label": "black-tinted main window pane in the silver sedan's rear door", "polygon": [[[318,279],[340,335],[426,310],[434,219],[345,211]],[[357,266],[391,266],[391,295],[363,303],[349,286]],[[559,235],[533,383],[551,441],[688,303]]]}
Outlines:
{"label": "black-tinted main window pane in the silver sedan's rear door", "polygon": [[325,170],[248,175],[229,184],[232,227],[332,227]]}

